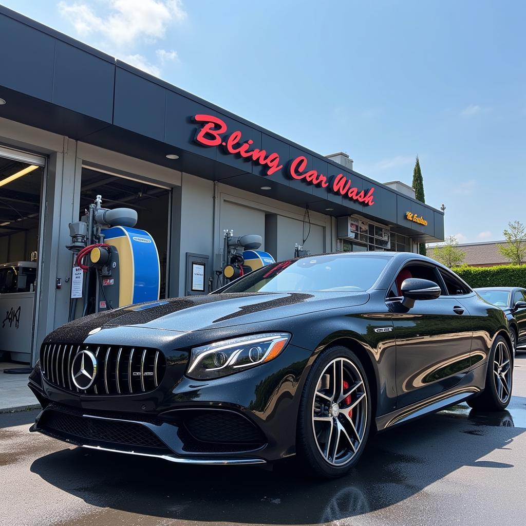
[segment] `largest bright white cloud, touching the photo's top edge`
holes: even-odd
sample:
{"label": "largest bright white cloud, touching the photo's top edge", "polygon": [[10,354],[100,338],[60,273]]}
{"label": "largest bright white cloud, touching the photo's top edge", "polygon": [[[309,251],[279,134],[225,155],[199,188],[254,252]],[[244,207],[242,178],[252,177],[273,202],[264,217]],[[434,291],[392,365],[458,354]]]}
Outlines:
{"label": "largest bright white cloud, touching the photo's top edge", "polygon": [[116,48],[156,42],[171,22],[186,18],[180,0],[109,0],[107,5],[108,12],[101,15],[82,2],[61,1],[58,9],[80,36],[96,35]]}

